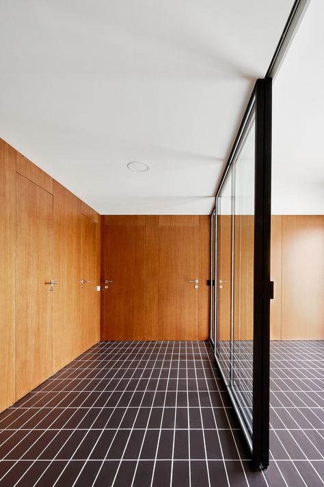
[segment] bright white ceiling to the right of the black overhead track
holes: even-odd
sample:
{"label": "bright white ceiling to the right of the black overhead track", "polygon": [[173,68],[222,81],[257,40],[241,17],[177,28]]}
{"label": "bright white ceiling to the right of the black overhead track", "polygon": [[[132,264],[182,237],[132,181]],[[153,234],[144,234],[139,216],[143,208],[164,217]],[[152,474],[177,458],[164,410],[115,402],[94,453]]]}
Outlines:
{"label": "bright white ceiling to the right of the black overhead track", "polygon": [[273,83],[273,214],[324,214],[323,18],[311,0]]}

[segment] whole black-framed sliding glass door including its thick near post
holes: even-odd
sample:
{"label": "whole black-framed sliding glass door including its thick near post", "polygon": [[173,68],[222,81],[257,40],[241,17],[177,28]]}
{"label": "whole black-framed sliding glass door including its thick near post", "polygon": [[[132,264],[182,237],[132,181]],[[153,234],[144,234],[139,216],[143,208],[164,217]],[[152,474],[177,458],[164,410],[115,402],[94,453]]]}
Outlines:
{"label": "whole black-framed sliding glass door including its thick near post", "polygon": [[271,79],[260,79],[217,190],[211,293],[215,358],[256,469],[269,464],[270,195]]}

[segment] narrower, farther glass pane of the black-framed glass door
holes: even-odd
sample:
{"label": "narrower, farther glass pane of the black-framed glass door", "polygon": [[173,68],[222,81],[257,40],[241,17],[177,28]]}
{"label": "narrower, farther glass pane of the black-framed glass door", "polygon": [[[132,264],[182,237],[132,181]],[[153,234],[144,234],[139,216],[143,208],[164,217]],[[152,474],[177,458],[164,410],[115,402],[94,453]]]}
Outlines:
{"label": "narrower, farther glass pane of the black-framed glass door", "polygon": [[231,378],[232,171],[217,197],[217,326],[215,354],[226,384]]}

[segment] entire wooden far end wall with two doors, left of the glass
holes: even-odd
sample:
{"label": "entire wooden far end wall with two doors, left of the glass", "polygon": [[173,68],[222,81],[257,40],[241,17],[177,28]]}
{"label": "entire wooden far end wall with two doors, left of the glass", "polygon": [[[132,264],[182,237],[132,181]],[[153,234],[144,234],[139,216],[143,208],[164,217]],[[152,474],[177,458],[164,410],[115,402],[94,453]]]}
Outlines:
{"label": "entire wooden far end wall with two doors, left of the glass", "polygon": [[[103,224],[101,243],[103,262],[101,276],[103,286],[101,338],[104,340],[161,340],[167,339],[167,336],[169,338],[174,336],[176,337],[175,339],[181,339],[181,336],[183,339],[197,339],[198,336],[200,336],[200,339],[208,338],[210,288],[207,286],[206,281],[210,272],[209,216],[109,215],[103,216],[101,220]],[[181,240],[181,236],[178,235],[179,232],[181,235],[183,232],[187,232],[185,240]],[[165,237],[165,234],[167,234],[167,237]],[[178,245],[174,241],[171,248],[169,244],[172,238],[176,238],[176,236],[178,236],[178,240],[180,238]],[[131,242],[131,240],[134,242],[137,240],[139,247],[129,262],[128,252],[131,247],[127,242]],[[133,246],[135,245],[134,242]],[[192,252],[191,244],[195,245],[194,253]],[[165,250],[169,251],[169,257],[165,256],[165,262],[163,261],[163,264],[161,264],[163,246]],[[180,262],[182,258],[186,261],[186,249],[189,252],[189,258],[187,256],[189,260],[193,254],[197,258],[195,276],[191,277],[200,279],[199,290],[194,290],[196,294],[193,295],[194,300],[197,298],[197,310],[191,310],[191,305],[185,306],[190,315],[189,317],[186,315],[187,327],[183,325],[184,320],[179,314],[180,305],[176,304],[176,307],[173,308],[172,304],[170,304],[172,299],[176,299],[176,301],[180,299],[178,296],[179,288],[183,289],[183,291],[187,289],[188,292],[189,289],[194,289],[193,284],[187,283],[187,280],[191,277],[186,278],[186,282],[183,282],[183,276],[179,277],[176,275],[177,262]],[[174,260],[172,260],[172,255],[176,256]],[[167,274],[167,269],[170,268],[171,262],[174,262],[171,271],[174,271],[174,276],[176,275],[176,277]],[[184,262],[183,264],[185,265]],[[112,277],[114,275],[118,276],[117,279]],[[129,279],[136,279],[136,275],[137,282],[135,282],[133,288],[129,288],[129,286],[133,286],[133,284],[130,284]],[[168,277],[165,277],[166,275]],[[161,276],[166,280],[162,279],[163,282],[161,282]],[[116,282],[114,282],[109,284],[109,288],[105,290],[104,279],[124,282],[124,285],[120,287],[120,284],[117,286]],[[171,280],[174,280],[173,284]],[[174,291],[170,292],[172,286],[174,286]],[[180,291],[180,297],[183,291]],[[129,300],[132,294],[135,301]],[[167,297],[165,297],[166,295]],[[199,308],[198,299],[200,302]],[[161,305],[161,300],[164,305]],[[169,302],[168,305],[167,302]],[[183,327],[182,334],[179,334],[172,325],[175,319],[172,316],[172,312],[178,316],[176,323],[180,323],[179,329]],[[195,316],[196,312],[197,316]],[[166,316],[168,313],[171,314],[169,318]],[[183,314],[185,315],[185,313],[184,311]],[[128,325],[127,329],[125,329],[124,323],[125,321],[127,322],[127,316]],[[190,326],[193,316],[196,321],[194,333]],[[172,335],[161,332],[162,322],[169,323],[167,326],[172,328]]]}

